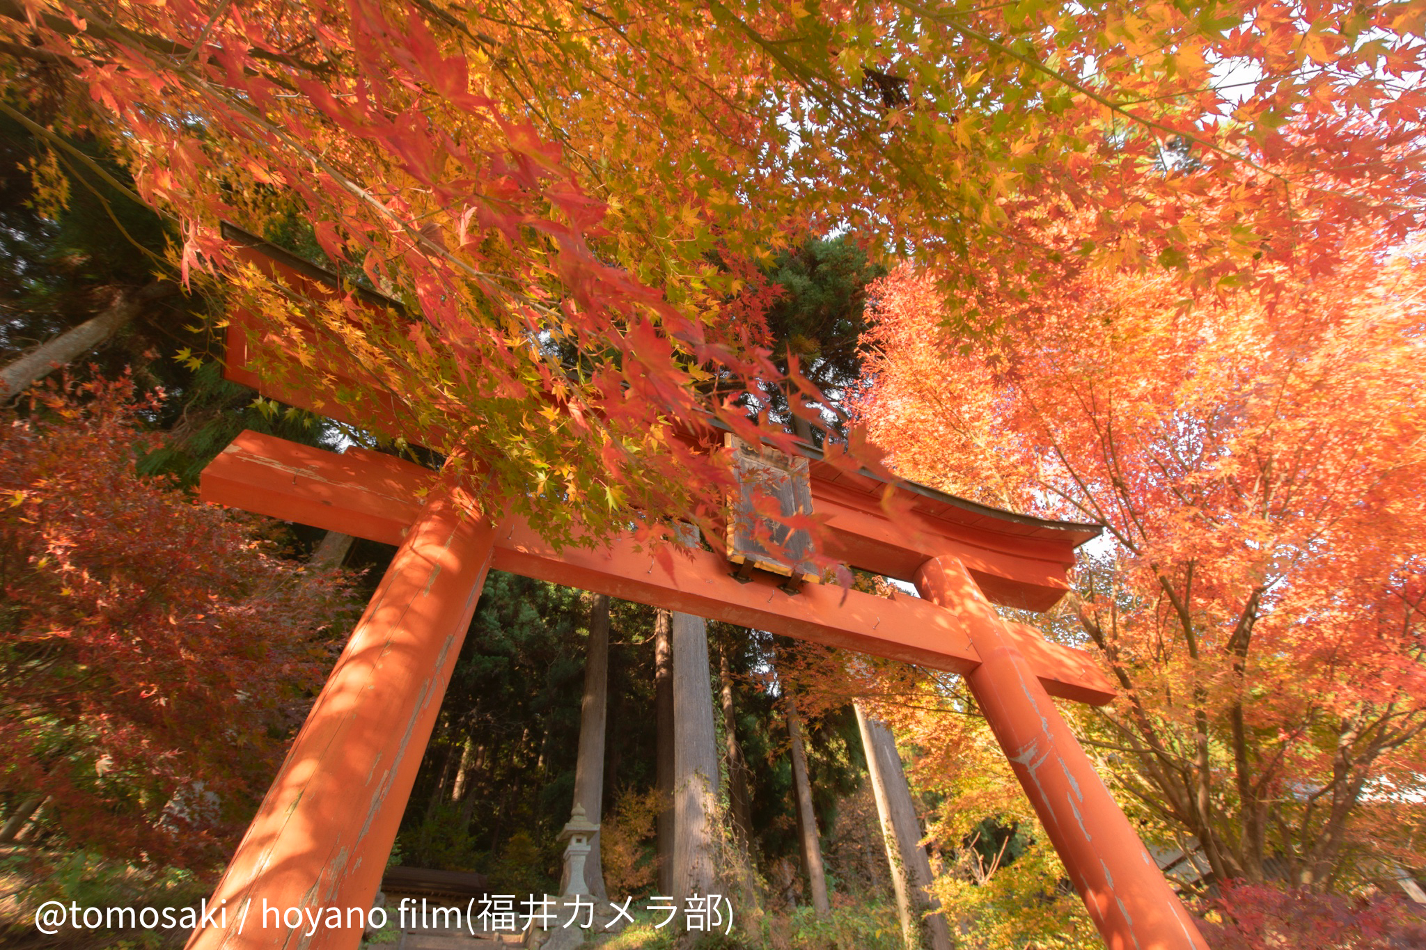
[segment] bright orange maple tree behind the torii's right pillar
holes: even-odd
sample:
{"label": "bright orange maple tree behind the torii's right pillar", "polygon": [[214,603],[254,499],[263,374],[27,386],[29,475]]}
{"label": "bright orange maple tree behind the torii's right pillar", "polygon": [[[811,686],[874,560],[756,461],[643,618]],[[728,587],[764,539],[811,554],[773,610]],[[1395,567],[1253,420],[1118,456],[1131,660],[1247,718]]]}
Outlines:
{"label": "bright orange maple tree behind the torii's right pillar", "polygon": [[981,301],[1020,316],[992,338],[943,326],[927,273],[871,291],[857,412],[897,470],[1107,526],[1052,625],[1121,688],[1078,721],[1151,837],[1195,839],[1219,880],[1416,863],[1420,252],[1358,231],[1332,278],[1268,268],[1271,298],[1002,285]]}

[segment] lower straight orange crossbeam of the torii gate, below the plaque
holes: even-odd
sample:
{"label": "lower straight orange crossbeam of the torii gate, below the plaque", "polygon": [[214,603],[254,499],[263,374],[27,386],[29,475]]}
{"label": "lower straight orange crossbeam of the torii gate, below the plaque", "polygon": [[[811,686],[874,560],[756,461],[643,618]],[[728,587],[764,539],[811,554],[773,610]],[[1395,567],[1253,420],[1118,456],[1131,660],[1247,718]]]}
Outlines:
{"label": "lower straight orange crossbeam of the torii gate, below the plaque", "polygon": [[[421,513],[421,499],[436,483],[436,473],[394,456],[358,447],[335,454],[244,432],[202,471],[200,494],[285,521],[401,544]],[[493,544],[492,567],[512,574],[931,669],[967,674],[980,665],[955,617],[915,597],[884,598],[820,584],[794,595],[771,578],[733,580],[712,551],[659,558],[629,537],[558,550],[518,517],[501,520]],[[1011,624],[1010,637],[1050,695],[1094,705],[1114,698],[1114,687],[1087,654],[1022,624]]]}

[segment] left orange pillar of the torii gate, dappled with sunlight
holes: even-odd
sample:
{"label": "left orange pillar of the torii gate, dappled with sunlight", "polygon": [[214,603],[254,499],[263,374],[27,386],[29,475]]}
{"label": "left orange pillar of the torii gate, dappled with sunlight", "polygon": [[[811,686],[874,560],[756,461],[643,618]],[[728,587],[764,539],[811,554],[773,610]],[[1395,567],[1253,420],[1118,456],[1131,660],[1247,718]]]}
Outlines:
{"label": "left orange pillar of the torii gate, dappled with sunlight", "polygon": [[[462,490],[432,489],[212,894],[228,926],[188,950],[356,944],[347,910],[381,887],[493,543]],[[338,907],[342,926],[324,916],[311,939],[291,907]]]}

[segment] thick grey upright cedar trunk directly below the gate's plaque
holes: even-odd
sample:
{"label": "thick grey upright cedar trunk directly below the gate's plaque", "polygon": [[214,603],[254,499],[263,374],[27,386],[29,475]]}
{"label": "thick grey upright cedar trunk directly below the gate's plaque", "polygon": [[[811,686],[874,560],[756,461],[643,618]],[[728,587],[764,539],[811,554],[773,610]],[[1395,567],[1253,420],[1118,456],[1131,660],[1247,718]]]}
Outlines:
{"label": "thick grey upright cedar trunk directly below the gate's plaque", "polygon": [[673,614],[673,890],[683,904],[712,893],[716,873],[717,729],[707,621]]}

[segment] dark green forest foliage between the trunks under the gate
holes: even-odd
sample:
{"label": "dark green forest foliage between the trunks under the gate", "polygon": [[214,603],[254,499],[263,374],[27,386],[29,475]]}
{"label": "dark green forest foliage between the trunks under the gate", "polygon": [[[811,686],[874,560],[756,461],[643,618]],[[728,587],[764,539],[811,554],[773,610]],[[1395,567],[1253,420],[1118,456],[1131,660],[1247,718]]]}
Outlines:
{"label": "dark green forest foliage between the trunks under the gate", "polygon": [[[613,819],[606,872],[635,893],[650,884],[656,722],[655,611],[613,601],[606,728],[605,820]],[[720,624],[710,635],[729,651],[737,741],[753,785],[754,859],[796,865],[799,845],[781,705],[763,688],[770,641]],[[398,847],[402,863],[479,870],[508,893],[530,893],[522,876],[558,877],[555,836],[569,819],[588,604],[578,591],[491,571],[422,762]],[[714,687],[717,695],[717,687]],[[846,715],[844,715],[846,714]],[[722,729],[722,715],[714,721]],[[468,745],[469,743],[469,745]],[[864,775],[848,711],[807,724],[814,805],[830,852],[837,812]],[[461,796],[455,788],[465,761]],[[626,813],[616,805],[626,803]],[[516,847],[515,836],[525,840]],[[512,850],[522,853],[519,860]],[[519,867],[526,862],[528,869]],[[612,863],[613,862],[613,863]],[[831,869],[833,880],[837,869]],[[764,872],[764,876],[766,872]]]}

